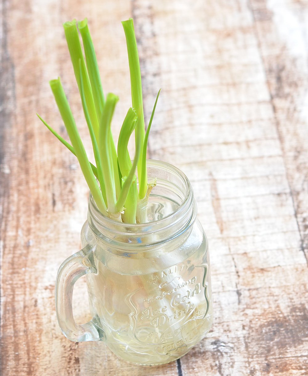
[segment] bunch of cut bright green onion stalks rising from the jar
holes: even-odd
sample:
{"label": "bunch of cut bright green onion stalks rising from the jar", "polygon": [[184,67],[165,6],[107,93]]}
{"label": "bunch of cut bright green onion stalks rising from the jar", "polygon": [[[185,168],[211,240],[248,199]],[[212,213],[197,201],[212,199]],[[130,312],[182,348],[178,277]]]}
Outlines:
{"label": "bunch of cut bright green onion stalks rising from the jar", "polygon": [[[157,94],[145,132],[140,63],[133,20],[130,18],[123,21],[122,25],[128,52],[132,107],[128,109],[124,118],[117,148],[111,125],[119,98],[112,93],[104,96],[86,18],[78,23],[76,20],[66,22],[63,27],[83,113],[91,137],[95,165],[88,159],[60,78],[51,80],[50,87],[71,143],[63,139],[45,120],[37,115],[51,133],[77,157],[101,213],[125,223],[144,223],[147,221],[148,197],[151,189],[156,185],[156,182],[148,183],[147,181],[146,150],[160,91]],[[133,133],[135,154],[132,161],[127,145]]]}

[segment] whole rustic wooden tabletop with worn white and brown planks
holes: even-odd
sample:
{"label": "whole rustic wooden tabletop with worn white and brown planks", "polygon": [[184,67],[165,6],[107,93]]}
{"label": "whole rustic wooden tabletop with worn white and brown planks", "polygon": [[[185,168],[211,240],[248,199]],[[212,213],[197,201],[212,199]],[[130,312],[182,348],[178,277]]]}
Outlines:
{"label": "whole rustic wooden tabletop with worn white and brown planks", "polygon": [[[308,1],[2,0],[2,375],[308,374]],[[120,21],[134,18],[149,158],[192,182],[210,243],[214,324],[180,361],[143,368],[60,332],[54,281],[80,249],[88,189],[48,80],[61,76],[86,147],[62,23],[88,17],[104,91],[130,106]],[[85,280],[74,291],[89,319]]]}

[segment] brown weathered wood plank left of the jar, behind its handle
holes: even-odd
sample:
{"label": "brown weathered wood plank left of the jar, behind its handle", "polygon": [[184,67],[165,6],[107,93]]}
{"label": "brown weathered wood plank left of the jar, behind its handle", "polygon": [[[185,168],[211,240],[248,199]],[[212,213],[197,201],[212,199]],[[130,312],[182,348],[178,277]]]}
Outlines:
{"label": "brown weathered wood plank left of the jar, behind its handle", "polygon": [[[71,343],[59,330],[54,310],[55,276],[63,259],[80,249],[88,189],[74,156],[35,116],[39,112],[65,136],[48,86],[48,80],[60,74],[80,133],[87,135],[61,25],[86,14],[98,46],[106,91],[112,89],[121,98],[115,117],[115,133],[119,131],[130,106],[120,21],[131,15],[131,6],[97,3],[90,12],[76,2],[8,1],[3,6],[7,41],[2,42],[6,78],[2,94],[7,97],[2,119],[11,123],[2,127],[5,155],[1,171],[6,183],[1,198],[2,374],[94,375],[114,374],[119,369],[122,374],[143,374],[142,368],[120,361],[103,343]],[[9,92],[13,85],[17,88],[15,102]],[[86,147],[90,149],[89,139]],[[89,313],[80,302],[87,300],[85,283],[80,281],[74,294],[74,312],[81,322]],[[175,375],[177,364],[168,364],[163,370]],[[159,375],[160,371],[150,369],[148,373]]]}

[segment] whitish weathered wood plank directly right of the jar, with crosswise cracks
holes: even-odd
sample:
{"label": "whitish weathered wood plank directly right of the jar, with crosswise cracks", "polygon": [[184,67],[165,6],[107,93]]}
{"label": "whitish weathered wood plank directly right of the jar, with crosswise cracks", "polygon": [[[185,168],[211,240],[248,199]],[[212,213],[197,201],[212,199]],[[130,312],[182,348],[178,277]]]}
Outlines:
{"label": "whitish weathered wood plank directly right of the jar, with crosswise cracks", "polygon": [[[258,37],[244,1],[168,4],[172,13],[154,6],[167,92],[151,152],[193,182],[216,306],[213,332],[181,359],[182,372],[304,374],[308,270],[260,50],[266,30]],[[288,144],[297,147],[292,135]]]}

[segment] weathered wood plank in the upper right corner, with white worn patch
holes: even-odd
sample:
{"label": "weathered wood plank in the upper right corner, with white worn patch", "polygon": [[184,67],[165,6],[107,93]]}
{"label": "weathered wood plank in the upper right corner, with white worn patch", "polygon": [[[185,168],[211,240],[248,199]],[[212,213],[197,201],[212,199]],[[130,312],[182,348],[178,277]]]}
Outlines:
{"label": "weathered wood plank in the upper right corner, with white worn patch", "polygon": [[300,247],[308,263],[307,3],[283,1],[266,4],[254,0],[251,3],[300,231]]}

